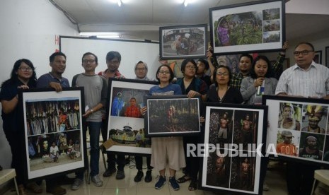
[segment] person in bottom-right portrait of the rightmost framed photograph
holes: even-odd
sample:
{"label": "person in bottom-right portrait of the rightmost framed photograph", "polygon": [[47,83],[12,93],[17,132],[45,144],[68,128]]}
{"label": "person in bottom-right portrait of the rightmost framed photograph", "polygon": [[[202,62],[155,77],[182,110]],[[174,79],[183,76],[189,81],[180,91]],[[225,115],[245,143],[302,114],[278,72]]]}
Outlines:
{"label": "person in bottom-right portrait of the rightmost framed photograph", "polygon": [[312,135],[306,137],[305,147],[299,149],[299,157],[302,158],[321,160],[322,153],[322,150],[318,149],[318,138]]}

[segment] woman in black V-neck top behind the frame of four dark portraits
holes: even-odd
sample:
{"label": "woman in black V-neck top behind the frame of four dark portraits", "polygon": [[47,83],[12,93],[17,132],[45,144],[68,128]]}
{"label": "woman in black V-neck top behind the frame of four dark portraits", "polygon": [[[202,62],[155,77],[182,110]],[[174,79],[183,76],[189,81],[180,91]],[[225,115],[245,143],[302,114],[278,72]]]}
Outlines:
{"label": "woman in black V-neck top behind the frame of four dark portraits", "polygon": [[214,84],[210,85],[207,94],[207,102],[219,102],[230,104],[242,104],[243,98],[240,91],[231,88],[230,81],[232,78],[231,69],[228,66],[217,66],[214,69]]}

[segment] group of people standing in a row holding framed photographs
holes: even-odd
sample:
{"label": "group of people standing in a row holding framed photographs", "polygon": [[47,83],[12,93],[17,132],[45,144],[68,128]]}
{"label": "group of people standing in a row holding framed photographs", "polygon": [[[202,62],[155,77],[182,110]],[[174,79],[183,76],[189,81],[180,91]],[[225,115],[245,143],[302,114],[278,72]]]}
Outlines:
{"label": "group of people standing in a row holding framed photographs", "polygon": [[[329,98],[329,69],[313,61],[314,47],[308,42],[302,42],[294,49],[294,57],[296,64],[282,73],[277,79],[273,78],[273,72],[282,69],[284,61],[284,51],[287,49],[287,42],[283,46],[283,52],[280,52],[277,62],[272,66],[265,56],[258,56],[255,59],[249,54],[242,54],[239,61],[239,71],[232,75],[228,66],[214,66],[212,64],[212,53],[207,52],[207,61],[199,59],[195,62],[193,59],[185,59],[181,64],[183,78],[172,83],[174,78],[173,70],[167,64],[161,64],[156,71],[155,85],[149,90],[149,95],[187,95],[188,98],[200,97],[206,102],[233,103],[242,104],[246,102],[249,105],[260,105],[262,95],[289,95],[302,96],[311,98]],[[70,87],[67,78],[62,77],[65,71],[67,57],[62,52],[54,53],[50,56],[50,66],[52,71],[46,73],[40,78],[36,78],[35,67],[28,59],[20,59],[16,61],[11,71],[11,78],[4,81],[1,85],[0,100],[2,105],[2,117],[4,121],[4,132],[11,146],[13,153],[12,166],[16,168],[18,184],[21,194],[25,193],[24,181],[22,177],[23,166],[21,162],[21,150],[16,143],[23,136],[22,129],[18,129],[16,118],[19,117],[18,110],[18,90],[28,88],[50,87],[57,92],[62,88]],[[86,122],[83,124],[84,129],[89,129],[91,143],[91,181],[97,186],[103,186],[103,181],[99,177],[99,136],[102,133],[103,140],[107,138],[107,125],[105,123],[104,107],[106,98],[108,97],[108,78],[125,78],[118,68],[120,66],[121,55],[119,52],[108,52],[106,56],[106,64],[108,69],[96,73],[98,66],[98,57],[87,52],[82,56],[83,73],[77,74],[72,80],[71,86],[84,87],[84,99],[88,109],[83,113]],[[139,61],[134,67],[136,74],[135,79],[149,80],[147,75],[147,65],[143,61]],[[206,74],[210,69],[210,76]],[[211,82],[213,81],[213,83]],[[320,95],[321,94],[321,95]],[[140,111],[145,114],[146,107]],[[202,117],[201,122],[204,122]],[[204,128],[204,126],[202,126]],[[86,132],[84,132],[86,133]],[[197,157],[187,157],[187,143],[200,143],[200,137],[161,137],[151,138],[151,156],[146,158],[147,171],[145,182],[151,182],[151,170],[153,167],[159,171],[159,179],[155,184],[156,189],[161,189],[166,183],[166,167],[169,167],[170,177],[168,182],[174,190],[180,189],[179,183],[190,181],[188,189],[190,191],[198,188],[198,170],[199,159]],[[185,152],[184,152],[185,150]],[[167,165],[168,157],[168,165]],[[135,182],[141,181],[144,177],[142,172],[142,157],[136,156],[137,175],[134,177]],[[117,168],[115,165],[117,164]],[[116,174],[116,179],[125,178],[125,155],[115,156],[108,153],[108,169],[105,170],[103,177],[110,177]],[[178,179],[175,173],[185,167],[185,175]],[[304,165],[289,164],[291,169],[287,172],[287,182],[289,194],[304,194],[309,190],[309,180],[313,177],[308,175],[301,179],[301,183],[297,183],[296,179],[292,179],[292,170],[306,169],[308,173],[316,167]],[[306,174],[305,171],[296,171],[301,175]],[[294,172],[293,174],[296,174]],[[290,178],[290,179],[289,179]],[[306,181],[306,179],[308,179]],[[262,178],[264,179],[264,178]],[[59,187],[58,178],[47,179],[47,192],[51,194],[65,194],[66,190]],[[306,181],[306,183],[305,183]],[[293,183],[292,183],[293,182]],[[71,185],[72,190],[79,189],[83,183],[83,172],[77,172],[76,178]],[[291,184],[292,183],[292,184]],[[25,184],[35,192],[40,193],[37,184]]]}

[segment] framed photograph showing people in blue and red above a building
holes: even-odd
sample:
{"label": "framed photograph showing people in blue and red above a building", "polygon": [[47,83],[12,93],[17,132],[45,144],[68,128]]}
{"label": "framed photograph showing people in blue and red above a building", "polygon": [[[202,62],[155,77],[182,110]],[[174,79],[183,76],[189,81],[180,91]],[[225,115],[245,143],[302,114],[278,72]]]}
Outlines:
{"label": "framed photograph showing people in blue and red above a building", "polygon": [[151,139],[145,137],[144,95],[156,81],[109,78],[108,150],[118,153],[151,154]]}

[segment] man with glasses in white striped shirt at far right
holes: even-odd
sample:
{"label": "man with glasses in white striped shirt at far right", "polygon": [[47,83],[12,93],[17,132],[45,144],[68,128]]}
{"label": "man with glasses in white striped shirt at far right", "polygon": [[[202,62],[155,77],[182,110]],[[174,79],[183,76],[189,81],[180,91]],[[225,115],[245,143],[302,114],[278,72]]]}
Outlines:
{"label": "man with glasses in white striped shirt at far right", "polygon": [[[313,57],[313,45],[309,42],[299,43],[294,49],[296,64],[282,73],[275,94],[329,99],[329,69],[316,64]],[[311,194],[314,170],[319,168],[316,165],[287,162],[289,194]]]}

